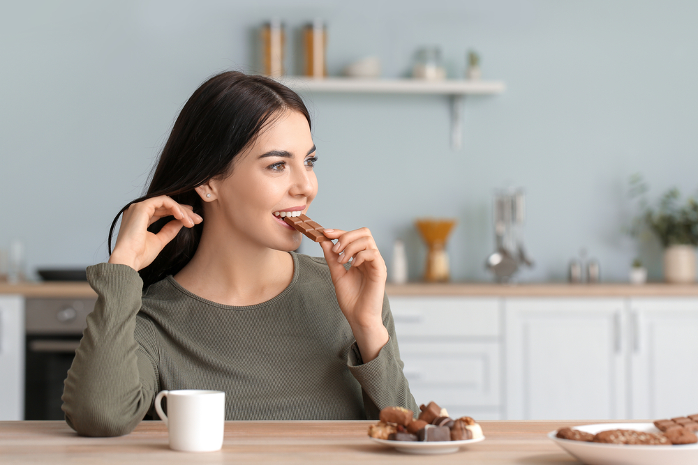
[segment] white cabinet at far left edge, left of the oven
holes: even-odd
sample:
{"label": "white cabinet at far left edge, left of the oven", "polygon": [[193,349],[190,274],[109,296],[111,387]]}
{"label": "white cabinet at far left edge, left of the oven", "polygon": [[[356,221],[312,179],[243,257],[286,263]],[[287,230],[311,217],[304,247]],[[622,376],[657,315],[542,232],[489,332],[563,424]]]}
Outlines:
{"label": "white cabinet at far left edge, left of the oven", "polygon": [[0,296],[0,420],[24,419],[24,299]]}

